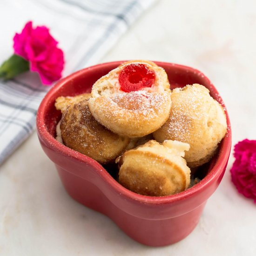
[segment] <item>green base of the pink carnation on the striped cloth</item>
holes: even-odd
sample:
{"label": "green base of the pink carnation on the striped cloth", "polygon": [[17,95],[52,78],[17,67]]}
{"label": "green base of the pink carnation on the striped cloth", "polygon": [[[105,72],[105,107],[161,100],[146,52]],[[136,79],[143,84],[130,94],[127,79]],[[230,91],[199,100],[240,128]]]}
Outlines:
{"label": "green base of the pink carnation on the striped cloth", "polygon": [[12,79],[14,76],[29,70],[29,62],[13,54],[7,61],[4,61],[0,67],[0,78],[4,80]]}

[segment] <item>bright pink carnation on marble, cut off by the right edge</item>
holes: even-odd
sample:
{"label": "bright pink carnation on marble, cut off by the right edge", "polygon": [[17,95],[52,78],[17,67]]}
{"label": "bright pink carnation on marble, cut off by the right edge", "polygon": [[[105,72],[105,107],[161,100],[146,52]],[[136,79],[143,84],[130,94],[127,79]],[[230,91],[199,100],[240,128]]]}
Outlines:
{"label": "bright pink carnation on marble, cut off by the right edge", "polygon": [[256,203],[256,141],[248,139],[235,145],[236,158],[230,172],[239,193]]}

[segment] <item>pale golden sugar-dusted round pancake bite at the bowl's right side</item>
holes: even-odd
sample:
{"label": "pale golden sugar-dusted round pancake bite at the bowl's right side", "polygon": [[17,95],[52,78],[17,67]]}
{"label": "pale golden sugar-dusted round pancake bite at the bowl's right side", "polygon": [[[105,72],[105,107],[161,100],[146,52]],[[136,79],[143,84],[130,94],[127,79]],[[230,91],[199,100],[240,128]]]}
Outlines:
{"label": "pale golden sugar-dusted round pancake bite at the bowl's right side", "polygon": [[208,162],[227,131],[222,106],[202,85],[176,88],[171,95],[172,107],[166,123],[153,133],[156,141],[177,140],[189,143],[185,159],[190,168]]}

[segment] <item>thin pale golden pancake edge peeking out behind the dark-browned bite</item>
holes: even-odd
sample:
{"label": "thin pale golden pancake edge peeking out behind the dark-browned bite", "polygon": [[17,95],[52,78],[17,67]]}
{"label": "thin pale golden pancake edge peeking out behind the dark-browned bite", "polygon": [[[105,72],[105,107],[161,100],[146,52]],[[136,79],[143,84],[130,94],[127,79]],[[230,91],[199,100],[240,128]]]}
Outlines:
{"label": "thin pale golden pancake edge peeking out behind the dark-browned bite", "polygon": [[61,110],[63,114],[69,105],[74,105],[80,101],[91,98],[90,93],[79,94],[77,96],[60,96],[55,100],[55,108]]}

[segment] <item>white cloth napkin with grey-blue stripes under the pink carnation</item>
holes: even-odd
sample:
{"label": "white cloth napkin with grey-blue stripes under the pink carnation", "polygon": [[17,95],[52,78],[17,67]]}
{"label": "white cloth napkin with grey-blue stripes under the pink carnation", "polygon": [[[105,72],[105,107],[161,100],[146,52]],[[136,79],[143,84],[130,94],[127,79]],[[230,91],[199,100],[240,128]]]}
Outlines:
{"label": "white cloth napkin with grey-blue stripes under the pink carnation", "polygon": [[[0,1],[0,63],[13,54],[15,32],[28,20],[45,25],[60,42],[64,76],[96,64],[155,0],[3,0]],[[49,87],[34,73],[0,80],[0,164],[35,128],[40,101]]]}

